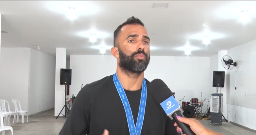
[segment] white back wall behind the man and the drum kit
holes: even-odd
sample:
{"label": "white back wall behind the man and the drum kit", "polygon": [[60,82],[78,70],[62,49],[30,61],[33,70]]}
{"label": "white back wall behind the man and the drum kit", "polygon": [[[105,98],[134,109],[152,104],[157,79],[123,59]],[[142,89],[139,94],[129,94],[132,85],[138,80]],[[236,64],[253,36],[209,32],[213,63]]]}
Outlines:
{"label": "white back wall behind the man and the drum kit", "polygon": [[[116,71],[116,59],[104,55],[70,55],[72,69],[72,85],[70,95],[75,96],[81,89],[81,84],[91,83]],[[161,78],[175,92],[176,99],[190,101],[191,98],[201,100],[209,94],[209,57],[164,57],[152,56],[145,78],[152,81]],[[207,109],[205,101],[204,111]]]}

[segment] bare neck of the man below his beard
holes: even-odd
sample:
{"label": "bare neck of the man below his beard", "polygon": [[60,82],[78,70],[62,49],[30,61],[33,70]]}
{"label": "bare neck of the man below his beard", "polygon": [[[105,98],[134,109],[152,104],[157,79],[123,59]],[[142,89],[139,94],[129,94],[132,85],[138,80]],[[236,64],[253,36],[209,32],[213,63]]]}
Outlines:
{"label": "bare neck of the man below his beard", "polygon": [[137,91],[142,87],[144,72],[138,76],[134,76],[134,75],[129,75],[128,73],[122,71],[122,69],[118,67],[117,77],[124,89],[128,91]]}

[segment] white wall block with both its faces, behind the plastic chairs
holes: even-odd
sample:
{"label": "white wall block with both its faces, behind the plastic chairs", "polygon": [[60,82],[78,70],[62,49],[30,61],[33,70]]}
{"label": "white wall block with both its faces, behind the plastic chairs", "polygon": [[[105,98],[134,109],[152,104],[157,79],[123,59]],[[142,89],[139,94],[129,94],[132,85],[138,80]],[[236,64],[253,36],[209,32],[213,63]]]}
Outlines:
{"label": "white wall block with both its faces, behind the plastic chairs", "polygon": [[1,49],[0,99],[12,111],[12,99],[19,100],[29,115],[53,108],[55,58],[31,48]]}

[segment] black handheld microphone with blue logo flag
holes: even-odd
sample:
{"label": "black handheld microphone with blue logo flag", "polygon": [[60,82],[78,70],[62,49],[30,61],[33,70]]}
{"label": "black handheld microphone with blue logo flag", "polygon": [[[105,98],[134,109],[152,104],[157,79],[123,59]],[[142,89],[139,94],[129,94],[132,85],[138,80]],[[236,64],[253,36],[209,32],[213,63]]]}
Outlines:
{"label": "black handheld microphone with blue logo flag", "polygon": [[155,79],[150,82],[149,85],[150,92],[154,95],[156,101],[161,105],[165,113],[174,119],[177,125],[181,128],[182,132],[186,135],[196,135],[188,124],[181,123],[176,116],[184,117],[183,110],[179,106],[179,103],[174,98],[172,91],[167,87],[167,85],[161,79]]}

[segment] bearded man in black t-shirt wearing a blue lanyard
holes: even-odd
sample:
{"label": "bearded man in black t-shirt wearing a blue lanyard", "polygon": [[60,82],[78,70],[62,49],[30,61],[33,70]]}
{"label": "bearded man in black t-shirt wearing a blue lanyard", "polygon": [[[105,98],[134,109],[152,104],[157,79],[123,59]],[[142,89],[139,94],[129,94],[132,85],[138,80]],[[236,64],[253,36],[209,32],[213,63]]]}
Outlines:
{"label": "bearded man in black t-shirt wearing a blue lanyard", "polygon": [[117,27],[111,53],[116,73],[80,90],[59,135],[177,135],[144,78],[150,38],[141,20],[131,17]]}

